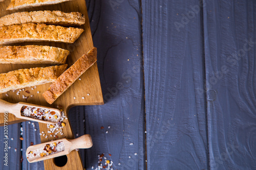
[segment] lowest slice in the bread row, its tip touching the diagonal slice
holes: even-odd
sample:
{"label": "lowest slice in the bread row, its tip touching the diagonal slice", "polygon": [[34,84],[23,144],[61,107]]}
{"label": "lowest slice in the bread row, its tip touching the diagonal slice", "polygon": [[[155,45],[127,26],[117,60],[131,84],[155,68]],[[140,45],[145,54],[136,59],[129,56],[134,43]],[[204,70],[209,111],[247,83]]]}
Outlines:
{"label": "lowest slice in the bread row, its tip touching the diagonal slice", "polygon": [[68,64],[50,67],[18,69],[0,74],[0,93],[55,81]]}

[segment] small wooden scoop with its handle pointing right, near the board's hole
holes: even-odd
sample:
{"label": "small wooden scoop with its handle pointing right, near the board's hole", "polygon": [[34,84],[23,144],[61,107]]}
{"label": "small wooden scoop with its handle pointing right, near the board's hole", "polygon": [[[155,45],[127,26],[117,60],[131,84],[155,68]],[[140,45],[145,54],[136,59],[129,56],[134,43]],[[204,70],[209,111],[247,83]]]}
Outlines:
{"label": "small wooden scoop with its handle pointing right, near the board's hole", "polygon": [[[47,144],[52,144],[52,143],[58,143],[62,141],[65,145],[65,150],[55,153],[55,154],[51,154],[48,156],[35,156],[30,158],[29,157],[29,153],[30,151],[34,152],[37,149],[39,150],[43,150]],[[32,145],[30,146],[27,151],[26,151],[26,157],[28,159],[28,161],[30,163],[32,162],[38,162],[38,161],[42,161],[42,160],[46,160],[46,159],[51,159],[51,158],[55,158],[55,157],[59,157],[62,155],[68,155],[71,151],[75,150],[75,149],[88,149],[91,148],[93,145],[93,141],[92,141],[92,137],[91,135],[82,135],[81,137],[78,137],[76,139],[58,139],[58,140],[53,140],[53,141],[49,141],[49,142],[45,142],[45,143],[41,143],[41,144],[36,144],[36,145]],[[33,154],[33,153],[32,153]]]}

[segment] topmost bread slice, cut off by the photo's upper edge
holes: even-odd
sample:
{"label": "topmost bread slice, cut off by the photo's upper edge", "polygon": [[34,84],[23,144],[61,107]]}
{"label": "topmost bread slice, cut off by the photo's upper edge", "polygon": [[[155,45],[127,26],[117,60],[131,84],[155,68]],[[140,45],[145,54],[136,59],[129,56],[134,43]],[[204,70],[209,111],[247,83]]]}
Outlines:
{"label": "topmost bread slice, cut off by the photo's upper edge", "polygon": [[72,0],[11,0],[11,3],[6,9],[16,10],[16,9],[23,9],[23,8],[59,4],[67,1],[72,1]]}

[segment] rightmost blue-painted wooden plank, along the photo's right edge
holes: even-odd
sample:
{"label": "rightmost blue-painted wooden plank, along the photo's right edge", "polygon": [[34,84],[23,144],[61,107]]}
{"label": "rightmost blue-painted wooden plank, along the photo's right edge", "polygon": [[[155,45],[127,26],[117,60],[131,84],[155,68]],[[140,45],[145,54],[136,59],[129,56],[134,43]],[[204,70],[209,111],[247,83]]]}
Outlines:
{"label": "rightmost blue-painted wooden plank, along the photo's right edge", "polygon": [[256,169],[255,1],[204,7],[210,169]]}

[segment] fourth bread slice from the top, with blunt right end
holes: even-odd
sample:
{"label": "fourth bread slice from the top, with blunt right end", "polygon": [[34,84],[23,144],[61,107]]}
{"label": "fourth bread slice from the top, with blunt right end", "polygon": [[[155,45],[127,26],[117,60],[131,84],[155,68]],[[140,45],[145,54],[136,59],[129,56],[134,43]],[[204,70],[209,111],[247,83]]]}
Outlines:
{"label": "fourth bread slice from the top, with blunt right end", "polygon": [[0,64],[65,64],[68,50],[53,46],[0,46]]}

